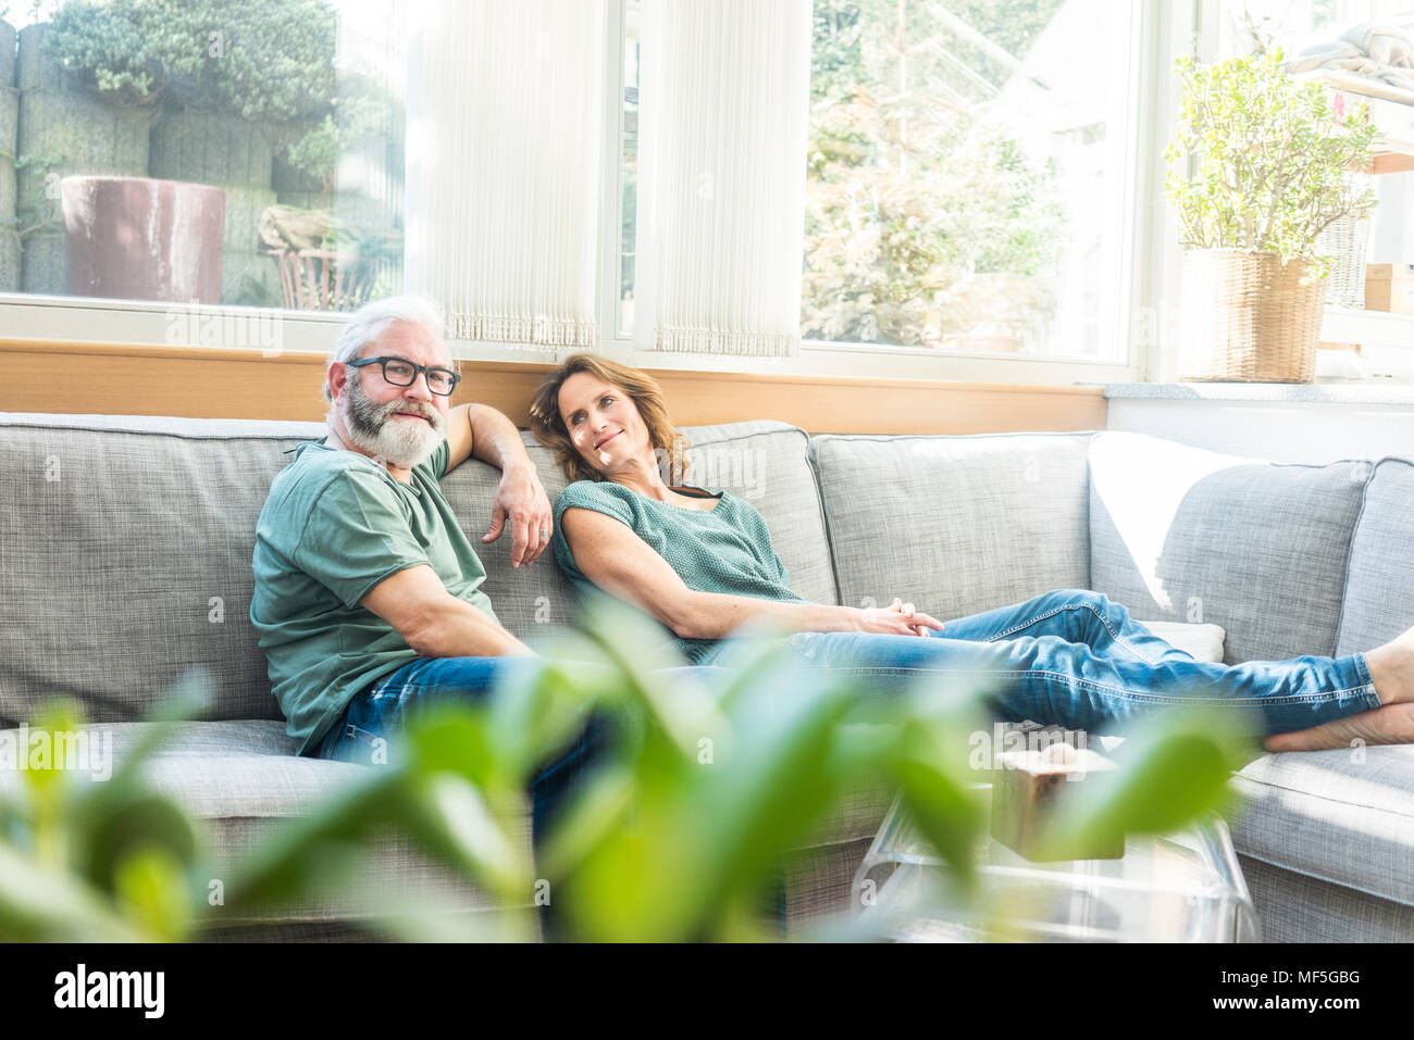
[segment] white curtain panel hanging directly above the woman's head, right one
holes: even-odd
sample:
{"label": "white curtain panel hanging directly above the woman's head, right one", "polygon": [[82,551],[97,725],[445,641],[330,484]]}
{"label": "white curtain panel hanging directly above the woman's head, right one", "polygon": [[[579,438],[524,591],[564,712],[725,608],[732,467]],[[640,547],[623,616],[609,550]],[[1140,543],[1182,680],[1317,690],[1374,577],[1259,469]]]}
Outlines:
{"label": "white curtain panel hanging directly above the woman's head, right one", "polygon": [[643,0],[638,342],[792,356],[810,0]]}

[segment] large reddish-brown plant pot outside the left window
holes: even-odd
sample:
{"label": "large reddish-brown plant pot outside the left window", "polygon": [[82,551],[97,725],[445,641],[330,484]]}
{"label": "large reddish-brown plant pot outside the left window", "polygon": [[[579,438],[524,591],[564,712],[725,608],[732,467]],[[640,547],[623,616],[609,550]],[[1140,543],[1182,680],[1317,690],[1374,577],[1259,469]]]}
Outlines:
{"label": "large reddish-brown plant pot outside the left window", "polygon": [[59,194],[72,295],[221,302],[221,188],[150,177],[66,177]]}

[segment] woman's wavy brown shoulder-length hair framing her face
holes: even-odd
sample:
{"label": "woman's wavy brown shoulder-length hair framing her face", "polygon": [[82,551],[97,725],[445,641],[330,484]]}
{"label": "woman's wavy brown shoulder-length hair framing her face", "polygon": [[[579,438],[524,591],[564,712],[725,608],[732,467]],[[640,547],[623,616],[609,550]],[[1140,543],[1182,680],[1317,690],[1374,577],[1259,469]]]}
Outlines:
{"label": "woman's wavy brown shoulder-length hair framing her face", "polygon": [[687,438],[677,432],[672,420],[667,418],[663,389],[652,376],[631,369],[628,365],[619,365],[597,353],[575,353],[546,373],[540,387],[534,391],[534,400],[530,401],[530,430],[540,444],[554,449],[554,462],[564,471],[570,482],[604,480],[604,475],[585,462],[575,449],[574,441],[570,439],[570,431],[564,427],[564,418],[560,415],[560,387],[577,372],[598,376],[628,394],[638,407],[638,414],[643,417],[648,437],[659,452],[659,469],[670,468],[670,473],[663,473],[663,482],[673,485],[674,480],[670,476],[680,479],[687,469],[686,451],[689,445]]}

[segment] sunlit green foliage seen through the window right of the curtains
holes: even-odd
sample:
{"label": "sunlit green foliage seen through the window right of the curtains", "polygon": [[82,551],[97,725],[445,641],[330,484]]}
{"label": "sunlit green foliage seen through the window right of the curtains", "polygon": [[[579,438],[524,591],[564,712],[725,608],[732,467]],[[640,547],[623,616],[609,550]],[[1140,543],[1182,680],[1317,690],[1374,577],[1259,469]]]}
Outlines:
{"label": "sunlit green foliage seen through the window right of the curtains", "polygon": [[806,167],[806,338],[942,346],[990,325],[1039,335],[1053,315],[1065,213],[1053,164],[997,129],[959,64],[1000,86],[1060,0],[817,0]]}

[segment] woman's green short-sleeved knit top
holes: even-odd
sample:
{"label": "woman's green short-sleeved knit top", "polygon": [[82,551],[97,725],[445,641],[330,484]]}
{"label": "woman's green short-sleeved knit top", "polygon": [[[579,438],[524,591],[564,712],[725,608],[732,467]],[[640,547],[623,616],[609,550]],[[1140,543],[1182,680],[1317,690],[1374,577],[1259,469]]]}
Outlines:
{"label": "woman's green short-sleeved knit top", "polygon": [[[701,488],[691,490],[711,497]],[[701,510],[658,502],[609,480],[571,483],[554,500],[554,560],[575,588],[587,591],[594,582],[575,567],[564,537],[561,517],[567,509],[592,509],[621,521],[697,592],[807,602],[786,586],[789,575],[771,545],[765,519],[749,502],[727,492],[721,492],[715,507]],[[662,627],[693,664],[707,663],[714,649],[724,646],[724,640],[682,639]]]}

